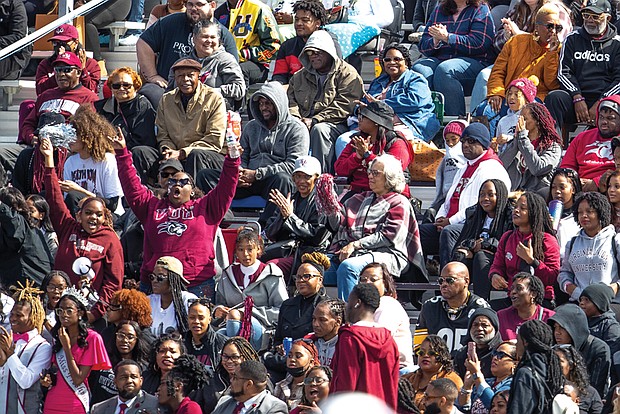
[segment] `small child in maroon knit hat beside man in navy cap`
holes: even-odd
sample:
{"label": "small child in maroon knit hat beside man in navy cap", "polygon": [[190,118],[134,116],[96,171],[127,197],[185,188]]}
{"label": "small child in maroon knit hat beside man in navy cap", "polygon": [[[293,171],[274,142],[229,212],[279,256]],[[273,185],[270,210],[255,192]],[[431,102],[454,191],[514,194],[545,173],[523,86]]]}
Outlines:
{"label": "small child in maroon knit hat beside man in navy cap", "polygon": [[435,200],[431,208],[437,210],[446,201],[446,194],[452,186],[456,172],[465,165],[465,156],[461,149],[461,135],[469,122],[464,119],[450,121],[443,129],[446,155],[441,160],[435,176]]}

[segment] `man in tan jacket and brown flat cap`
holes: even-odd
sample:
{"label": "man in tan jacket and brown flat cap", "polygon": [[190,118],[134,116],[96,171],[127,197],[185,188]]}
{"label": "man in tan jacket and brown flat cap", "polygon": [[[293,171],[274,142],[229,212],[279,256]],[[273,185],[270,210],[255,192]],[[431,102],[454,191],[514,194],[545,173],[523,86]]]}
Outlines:
{"label": "man in tan jacket and brown flat cap", "polygon": [[157,144],[164,159],[178,159],[196,177],[204,168],[222,169],[226,103],[200,82],[202,65],[182,59],[172,66],[177,87],[166,92],[157,108]]}

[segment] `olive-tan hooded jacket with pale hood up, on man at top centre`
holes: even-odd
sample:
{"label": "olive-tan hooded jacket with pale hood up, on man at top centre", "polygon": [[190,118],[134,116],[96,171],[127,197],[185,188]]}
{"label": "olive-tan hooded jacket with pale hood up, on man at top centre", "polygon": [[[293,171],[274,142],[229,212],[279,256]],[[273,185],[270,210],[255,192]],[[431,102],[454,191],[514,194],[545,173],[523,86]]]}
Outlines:
{"label": "olive-tan hooded jacket with pale hood up, on man at top centre", "polygon": [[338,57],[332,37],[324,30],[314,32],[304,47],[327,52],[334,63],[327,74],[319,74],[310,65],[306,53],[299,60],[303,69],[293,75],[287,90],[289,110],[298,118],[314,123],[341,123],[353,112],[356,100],[362,99],[364,82],[355,68]]}

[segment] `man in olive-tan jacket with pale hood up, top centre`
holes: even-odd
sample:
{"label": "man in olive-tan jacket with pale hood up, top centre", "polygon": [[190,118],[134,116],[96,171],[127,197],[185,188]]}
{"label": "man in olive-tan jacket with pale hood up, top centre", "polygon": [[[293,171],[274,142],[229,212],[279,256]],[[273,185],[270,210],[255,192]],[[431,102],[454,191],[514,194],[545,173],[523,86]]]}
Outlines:
{"label": "man in olive-tan jacket with pale hood up, top centre", "polygon": [[312,156],[321,161],[323,171],[333,171],[333,143],[349,130],[346,120],[362,98],[364,83],[353,66],[338,57],[325,30],[308,38],[300,56],[304,67],[290,79],[289,109],[310,131]]}

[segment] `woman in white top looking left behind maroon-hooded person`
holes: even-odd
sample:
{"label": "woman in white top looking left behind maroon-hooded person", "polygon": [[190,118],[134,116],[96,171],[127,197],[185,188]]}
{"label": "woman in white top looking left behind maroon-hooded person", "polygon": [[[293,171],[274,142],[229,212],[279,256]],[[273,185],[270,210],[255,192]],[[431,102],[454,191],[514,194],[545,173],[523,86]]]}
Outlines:
{"label": "woman in white top looking left behind maroon-hooded person", "polygon": [[398,346],[399,370],[406,374],[413,370],[413,343],[409,316],[397,299],[394,278],[383,263],[369,263],[360,272],[360,283],[372,283],[379,291],[381,301],[375,311],[375,322],[387,328]]}

